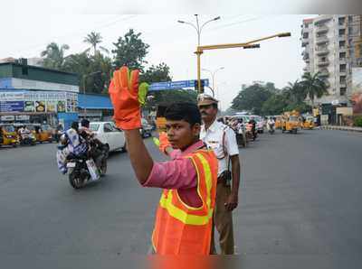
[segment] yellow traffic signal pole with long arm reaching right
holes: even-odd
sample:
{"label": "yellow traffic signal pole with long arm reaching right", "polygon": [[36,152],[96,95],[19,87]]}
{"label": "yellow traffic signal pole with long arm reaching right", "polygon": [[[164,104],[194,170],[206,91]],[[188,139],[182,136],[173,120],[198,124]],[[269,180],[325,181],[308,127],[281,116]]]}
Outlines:
{"label": "yellow traffic signal pole with long arm reaching right", "polygon": [[291,32],[281,32],[281,33],[273,34],[273,35],[270,35],[267,37],[262,37],[260,39],[252,40],[250,42],[197,46],[195,54],[197,55],[197,88],[198,88],[198,92],[203,93],[203,90],[201,88],[201,54],[203,54],[204,51],[232,49],[232,48],[243,48],[243,49],[258,48],[259,44],[256,44],[256,42],[262,42],[264,40],[268,40],[268,39],[275,38],[275,37],[287,37],[287,36],[291,36]]}

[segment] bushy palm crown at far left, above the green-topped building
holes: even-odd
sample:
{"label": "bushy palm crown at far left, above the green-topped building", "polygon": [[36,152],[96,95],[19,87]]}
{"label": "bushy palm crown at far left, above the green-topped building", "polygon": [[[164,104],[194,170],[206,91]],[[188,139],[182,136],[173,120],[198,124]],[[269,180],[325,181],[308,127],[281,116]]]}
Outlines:
{"label": "bushy palm crown at far left, above the green-topped building", "polygon": [[69,46],[67,44],[63,44],[61,47],[55,42],[48,44],[45,51],[42,51],[41,53],[41,56],[44,57],[43,67],[62,70],[64,52],[66,50],[69,50]]}

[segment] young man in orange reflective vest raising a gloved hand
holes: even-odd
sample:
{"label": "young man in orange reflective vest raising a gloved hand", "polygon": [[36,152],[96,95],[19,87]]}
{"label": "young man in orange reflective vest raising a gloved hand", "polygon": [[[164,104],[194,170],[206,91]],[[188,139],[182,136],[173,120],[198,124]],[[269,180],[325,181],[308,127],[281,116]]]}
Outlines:
{"label": "young man in orange reflective vest raising a gloved hand", "polygon": [[199,139],[201,116],[191,103],[170,105],[165,111],[168,144],[176,149],[169,162],[154,162],[139,134],[140,105],[148,86],[138,88],[138,70],[114,72],[110,98],[114,120],[126,137],[129,159],[143,187],[163,189],[152,233],[157,255],[210,253],[217,159]]}

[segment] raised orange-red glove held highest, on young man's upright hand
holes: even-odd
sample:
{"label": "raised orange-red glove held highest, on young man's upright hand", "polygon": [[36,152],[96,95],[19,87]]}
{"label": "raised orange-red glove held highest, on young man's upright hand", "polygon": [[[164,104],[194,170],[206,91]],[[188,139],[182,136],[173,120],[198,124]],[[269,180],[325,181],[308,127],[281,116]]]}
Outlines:
{"label": "raised orange-red glove held highest, on young man's upright hand", "polygon": [[[114,121],[124,130],[141,127],[141,112],[139,100],[144,100],[148,91],[147,83],[142,83],[138,92],[138,70],[123,66],[113,73],[110,81],[110,100],[114,107]],[[142,96],[139,96],[142,95]]]}

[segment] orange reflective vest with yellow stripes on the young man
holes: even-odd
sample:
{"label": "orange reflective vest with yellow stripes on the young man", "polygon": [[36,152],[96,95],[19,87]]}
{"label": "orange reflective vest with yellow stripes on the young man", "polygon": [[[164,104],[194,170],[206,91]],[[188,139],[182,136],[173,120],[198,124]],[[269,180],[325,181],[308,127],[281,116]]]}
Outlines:
{"label": "orange reflective vest with yellow stripes on the young man", "polygon": [[200,208],[186,205],[177,190],[163,190],[159,201],[152,244],[158,255],[209,255],[217,182],[217,159],[212,150],[185,156],[197,172]]}

